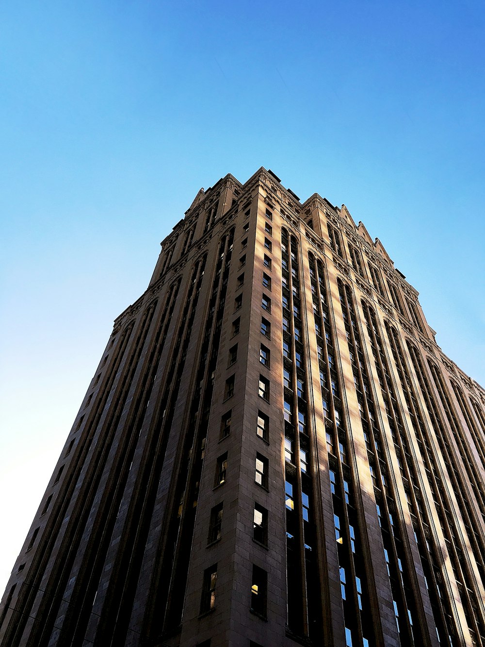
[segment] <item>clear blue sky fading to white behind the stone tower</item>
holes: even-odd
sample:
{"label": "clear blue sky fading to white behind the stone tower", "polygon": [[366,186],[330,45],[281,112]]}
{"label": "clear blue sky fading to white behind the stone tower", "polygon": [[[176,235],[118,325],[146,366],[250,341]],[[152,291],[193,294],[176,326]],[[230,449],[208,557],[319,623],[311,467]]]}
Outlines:
{"label": "clear blue sky fading to white behind the stone tower", "polygon": [[0,4],[0,595],[113,320],[201,186],[345,203],[485,385],[481,1]]}

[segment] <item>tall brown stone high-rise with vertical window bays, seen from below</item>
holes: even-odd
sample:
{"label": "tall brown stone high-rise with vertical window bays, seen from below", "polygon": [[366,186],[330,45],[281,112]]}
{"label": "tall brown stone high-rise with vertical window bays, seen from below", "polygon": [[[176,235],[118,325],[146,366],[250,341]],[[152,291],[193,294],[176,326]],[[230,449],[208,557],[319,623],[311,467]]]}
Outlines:
{"label": "tall brown stone high-rise with vertical window bays, seen from below", "polygon": [[200,190],[114,322],[2,647],[485,645],[485,391],[378,239]]}

